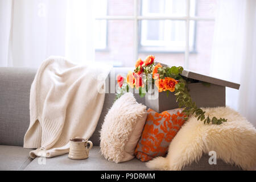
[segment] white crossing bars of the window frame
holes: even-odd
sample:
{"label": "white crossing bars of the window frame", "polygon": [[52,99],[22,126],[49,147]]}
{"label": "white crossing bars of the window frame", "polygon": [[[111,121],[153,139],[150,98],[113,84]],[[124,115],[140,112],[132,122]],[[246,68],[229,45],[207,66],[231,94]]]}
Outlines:
{"label": "white crossing bars of the window frame", "polygon": [[184,68],[188,68],[189,63],[189,25],[191,20],[204,20],[204,21],[214,21],[212,17],[199,17],[191,15],[191,1],[186,0],[186,15],[176,16],[176,15],[155,15],[155,16],[141,16],[138,15],[139,0],[134,0],[134,15],[133,16],[98,16],[96,20],[133,20],[134,21],[134,60],[138,59],[138,45],[139,45],[139,32],[138,32],[138,22],[139,20],[184,20],[185,21],[185,59]]}

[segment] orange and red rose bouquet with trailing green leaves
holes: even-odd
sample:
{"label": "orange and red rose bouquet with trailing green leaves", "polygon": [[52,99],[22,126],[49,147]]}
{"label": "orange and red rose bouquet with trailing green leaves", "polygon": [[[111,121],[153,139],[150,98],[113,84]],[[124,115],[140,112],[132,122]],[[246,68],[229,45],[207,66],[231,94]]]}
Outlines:
{"label": "orange and red rose bouquet with trailing green leaves", "polygon": [[184,109],[183,113],[187,115],[185,119],[194,114],[197,120],[204,121],[204,123],[220,125],[226,122],[227,119],[225,118],[206,117],[205,111],[198,108],[195,102],[192,102],[187,82],[193,82],[193,80],[181,76],[182,72],[183,67],[164,67],[160,63],[156,64],[155,56],[147,56],[144,61],[140,58],[136,61],[134,71],[129,72],[126,78],[121,75],[117,76],[119,88],[116,99],[134,88],[139,90],[141,97],[144,97],[149,86],[155,85],[158,92],[166,92],[167,97],[170,92],[174,93],[176,102],[179,107]]}

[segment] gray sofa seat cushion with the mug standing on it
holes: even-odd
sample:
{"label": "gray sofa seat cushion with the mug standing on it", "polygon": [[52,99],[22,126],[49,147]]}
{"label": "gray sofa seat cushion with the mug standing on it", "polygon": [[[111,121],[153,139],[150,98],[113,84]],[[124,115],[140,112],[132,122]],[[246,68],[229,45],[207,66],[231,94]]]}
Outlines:
{"label": "gray sofa seat cushion with the mug standing on it", "polygon": [[141,170],[150,170],[146,167],[145,163],[142,163],[138,159],[130,160],[129,162],[124,163],[114,163],[109,162],[100,154],[100,147],[93,146],[92,150],[89,152],[89,158],[85,160],[72,160],[68,159],[68,154],[56,156],[54,158],[46,158],[45,164],[38,161],[42,159],[35,158],[24,170],[84,170],[84,171],[141,171]]}

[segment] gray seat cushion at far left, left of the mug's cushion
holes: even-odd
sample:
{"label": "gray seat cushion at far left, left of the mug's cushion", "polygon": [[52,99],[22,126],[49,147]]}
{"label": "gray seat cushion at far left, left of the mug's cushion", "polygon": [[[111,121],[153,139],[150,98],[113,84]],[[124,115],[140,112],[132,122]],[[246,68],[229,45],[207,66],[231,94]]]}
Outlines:
{"label": "gray seat cushion at far left, left of the mug's cushion", "polygon": [[32,161],[30,151],[23,147],[0,145],[0,170],[23,170]]}

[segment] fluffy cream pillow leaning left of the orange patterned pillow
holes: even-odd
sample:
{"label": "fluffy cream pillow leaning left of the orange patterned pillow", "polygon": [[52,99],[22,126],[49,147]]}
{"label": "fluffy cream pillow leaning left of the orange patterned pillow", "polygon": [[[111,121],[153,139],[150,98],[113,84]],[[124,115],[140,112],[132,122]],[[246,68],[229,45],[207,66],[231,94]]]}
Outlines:
{"label": "fluffy cream pillow leaning left of the orange patterned pillow", "polygon": [[114,102],[102,125],[101,154],[115,163],[133,159],[146,118],[146,106],[138,104],[132,93],[123,94]]}

